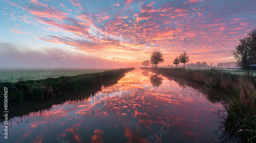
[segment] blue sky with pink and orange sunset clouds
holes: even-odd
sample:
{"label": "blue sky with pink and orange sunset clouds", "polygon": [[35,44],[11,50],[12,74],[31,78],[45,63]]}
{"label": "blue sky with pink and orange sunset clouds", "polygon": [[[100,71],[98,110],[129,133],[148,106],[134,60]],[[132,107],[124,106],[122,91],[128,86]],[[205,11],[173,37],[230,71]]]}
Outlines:
{"label": "blue sky with pink and orange sunset clouds", "polygon": [[162,65],[183,51],[217,65],[256,28],[255,0],[1,0],[0,9],[0,68],[134,66],[154,50]]}

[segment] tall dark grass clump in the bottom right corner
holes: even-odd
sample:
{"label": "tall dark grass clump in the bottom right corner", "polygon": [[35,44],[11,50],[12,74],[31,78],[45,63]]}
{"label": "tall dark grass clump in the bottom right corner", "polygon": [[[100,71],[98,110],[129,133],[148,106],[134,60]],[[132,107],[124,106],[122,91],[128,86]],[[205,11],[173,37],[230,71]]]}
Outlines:
{"label": "tall dark grass clump in the bottom right corner", "polygon": [[255,93],[244,101],[244,93],[235,88],[229,92],[231,98],[222,103],[225,110],[217,113],[222,118],[219,138],[223,142],[256,142],[256,108],[255,104],[248,104],[253,103]]}

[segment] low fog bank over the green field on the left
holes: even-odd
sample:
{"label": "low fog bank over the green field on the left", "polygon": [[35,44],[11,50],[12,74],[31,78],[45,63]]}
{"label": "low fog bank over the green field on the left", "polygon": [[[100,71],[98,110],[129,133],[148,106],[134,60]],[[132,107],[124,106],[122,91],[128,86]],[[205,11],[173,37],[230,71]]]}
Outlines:
{"label": "low fog bank over the green field on the left", "polygon": [[89,55],[77,50],[41,47],[40,50],[23,50],[9,43],[0,43],[0,69],[82,69],[123,68],[136,65]]}

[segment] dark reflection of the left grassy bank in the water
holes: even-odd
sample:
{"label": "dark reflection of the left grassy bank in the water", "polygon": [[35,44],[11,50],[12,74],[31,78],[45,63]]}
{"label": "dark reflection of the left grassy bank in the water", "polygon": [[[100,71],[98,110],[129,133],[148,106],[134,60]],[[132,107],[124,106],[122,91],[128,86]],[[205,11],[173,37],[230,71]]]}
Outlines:
{"label": "dark reflection of the left grassy bank in the water", "polygon": [[[24,115],[28,115],[30,112],[34,112],[35,114],[44,115],[45,111],[49,111],[52,109],[53,105],[63,105],[64,103],[75,104],[78,102],[86,102],[91,97],[102,90],[102,87],[113,87],[117,84],[118,80],[120,80],[124,75],[116,76],[110,80],[102,80],[101,83],[96,84],[94,88],[86,89],[82,92],[70,92],[66,95],[62,95],[59,97],[55,97],[53,99],[46,99],[44,101],[36,102],[33,104],[19,104],[16,106],[8,107],[9,113],[8,117],[12,118],[14,116],[20,116],[22,118]],[[3,112],[3,108],[0,109],[0,112]]]}

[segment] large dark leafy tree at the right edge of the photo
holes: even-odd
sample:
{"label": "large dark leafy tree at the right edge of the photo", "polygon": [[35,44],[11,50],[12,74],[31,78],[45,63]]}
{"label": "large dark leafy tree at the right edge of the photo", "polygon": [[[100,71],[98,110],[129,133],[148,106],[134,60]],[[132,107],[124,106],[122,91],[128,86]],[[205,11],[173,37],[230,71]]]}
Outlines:
{"label": "large dark leafy tree at the right edge of the photo", "polygon": [[248,69],[250,64],[256,63],[256,29],[247,34],[247,37],[239,39],[239,45],[232,54],[236,60],[236,65],[243,69]]}

